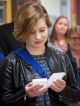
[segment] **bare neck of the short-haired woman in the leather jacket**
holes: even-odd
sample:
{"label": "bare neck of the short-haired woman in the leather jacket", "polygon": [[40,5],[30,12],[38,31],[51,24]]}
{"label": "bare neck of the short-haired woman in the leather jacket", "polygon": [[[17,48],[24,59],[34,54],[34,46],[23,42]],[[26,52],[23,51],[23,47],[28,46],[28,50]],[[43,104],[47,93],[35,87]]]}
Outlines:
{"label": "bare neck of the short-haired woman in the leather jacket", "polygon": [[45,46],[40,48],[33,48],[26,46],[26,49],[30,52],[31,55],[42,55],[45,53]]}

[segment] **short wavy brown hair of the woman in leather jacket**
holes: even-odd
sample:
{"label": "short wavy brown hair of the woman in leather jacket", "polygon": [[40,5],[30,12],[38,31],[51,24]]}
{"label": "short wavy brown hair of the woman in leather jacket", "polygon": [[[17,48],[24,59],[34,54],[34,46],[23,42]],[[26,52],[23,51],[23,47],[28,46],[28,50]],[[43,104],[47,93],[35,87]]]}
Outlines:
{"label": "short wavy brown hair of the woman in leather jacket", "polygon": [[44,18],[46,25],[51,27],[51,21],[46,9],[41,4],[27,3],[22,6],[14,20],[14,36],[18,40],[25,41],[35,23]]}

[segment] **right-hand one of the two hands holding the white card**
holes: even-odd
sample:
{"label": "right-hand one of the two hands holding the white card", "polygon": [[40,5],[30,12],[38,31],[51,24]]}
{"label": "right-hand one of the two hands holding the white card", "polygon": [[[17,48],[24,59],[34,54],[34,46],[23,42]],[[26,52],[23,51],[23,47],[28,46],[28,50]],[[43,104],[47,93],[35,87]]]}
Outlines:
{"label": "right-hand one of the two hands holding the white card", "polygon": [[55,92],[61,92],[66,86],[66,82],[64,80],[56,80],[54,81],[50,88]]}

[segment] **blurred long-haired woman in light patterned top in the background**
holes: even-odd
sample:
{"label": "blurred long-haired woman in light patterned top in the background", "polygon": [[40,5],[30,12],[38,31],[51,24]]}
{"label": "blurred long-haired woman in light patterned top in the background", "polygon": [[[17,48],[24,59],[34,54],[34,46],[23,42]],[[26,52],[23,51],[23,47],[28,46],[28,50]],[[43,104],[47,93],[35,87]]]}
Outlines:
{"label": "blurred long-haired woman in light patterned top in the background", "polygon": [[51,43],[64,52],[67,50],[68,29],[69,23],[67,17],[60,16],[56,19],[50,36]]}

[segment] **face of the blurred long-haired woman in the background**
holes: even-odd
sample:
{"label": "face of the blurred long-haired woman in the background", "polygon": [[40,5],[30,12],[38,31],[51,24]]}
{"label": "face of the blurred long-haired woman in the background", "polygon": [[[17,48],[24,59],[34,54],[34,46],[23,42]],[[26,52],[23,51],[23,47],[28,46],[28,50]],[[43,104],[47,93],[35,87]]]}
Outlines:
{"label": "face of the blurred long-haired woman in the background", "polygon": [[68,20],[66,18],[60,18],[55,25],[55,31],[57,35],[65,35],[68,30]]}

